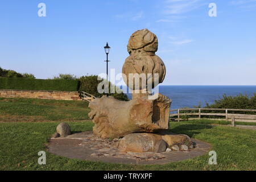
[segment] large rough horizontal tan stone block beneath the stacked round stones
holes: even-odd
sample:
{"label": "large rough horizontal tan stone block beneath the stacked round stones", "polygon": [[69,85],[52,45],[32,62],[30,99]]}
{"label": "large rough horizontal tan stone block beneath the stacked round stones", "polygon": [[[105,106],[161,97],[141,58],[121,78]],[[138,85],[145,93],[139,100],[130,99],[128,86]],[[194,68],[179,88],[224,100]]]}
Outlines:
{"label": "large rough horizontal tan stone block beneath the stacked round stones", "polygon": [[88,115],[93,119],[94,134],[101,138],[118,138],[135,132],[168,129],[170,103],[170,98],[162,94],[155,100],[144,96],[131,101],[102,96],[90,102]]}

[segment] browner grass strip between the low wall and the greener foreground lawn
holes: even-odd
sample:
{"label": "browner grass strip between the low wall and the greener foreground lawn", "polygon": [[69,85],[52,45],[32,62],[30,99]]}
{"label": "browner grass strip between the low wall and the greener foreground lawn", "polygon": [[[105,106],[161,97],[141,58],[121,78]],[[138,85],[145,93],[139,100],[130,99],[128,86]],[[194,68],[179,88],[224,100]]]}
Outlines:
{"label": "browner grass strip between the low wall and the greener foreground lawn", "polygon": [[79,121],[89,119],[88,102],[0,98],[0,121]]}

